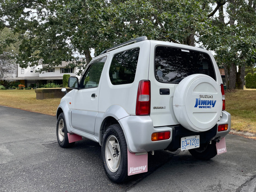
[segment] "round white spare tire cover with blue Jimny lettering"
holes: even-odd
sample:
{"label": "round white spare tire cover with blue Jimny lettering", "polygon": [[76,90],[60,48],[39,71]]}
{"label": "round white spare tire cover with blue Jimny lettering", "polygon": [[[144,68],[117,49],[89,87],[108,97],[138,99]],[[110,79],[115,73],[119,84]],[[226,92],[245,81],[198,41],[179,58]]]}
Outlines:
{"label": "round white spare tire cover with blue Jimny lettering", "polygon": [[222,111],[220,85],[208,75],[185,77],[174,92],[173,110],[178,122],[186,129],[196,132],[211,129]]}

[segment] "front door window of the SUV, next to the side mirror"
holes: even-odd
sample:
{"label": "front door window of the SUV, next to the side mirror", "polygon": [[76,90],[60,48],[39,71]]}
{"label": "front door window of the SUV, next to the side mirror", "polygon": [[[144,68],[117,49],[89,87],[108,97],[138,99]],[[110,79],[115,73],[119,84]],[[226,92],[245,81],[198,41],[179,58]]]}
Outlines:
{"label": "front door window of the SUV, next to the side mirror", "polygon": [[100,58],[89,64],[89,68],[81,81],[81,88],[94,88],[99,86],[102,69],[106,58]]}

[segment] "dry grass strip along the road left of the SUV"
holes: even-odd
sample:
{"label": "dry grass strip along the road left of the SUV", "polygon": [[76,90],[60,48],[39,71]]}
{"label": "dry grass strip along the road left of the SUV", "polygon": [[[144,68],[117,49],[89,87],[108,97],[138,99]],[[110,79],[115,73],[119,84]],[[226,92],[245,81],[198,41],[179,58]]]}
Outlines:
{"label": "dry grass strip along the road left of the SUV", "polygon": [[60,98],[37,100],[35,90],[0,90],[0,105],[55,115]]}

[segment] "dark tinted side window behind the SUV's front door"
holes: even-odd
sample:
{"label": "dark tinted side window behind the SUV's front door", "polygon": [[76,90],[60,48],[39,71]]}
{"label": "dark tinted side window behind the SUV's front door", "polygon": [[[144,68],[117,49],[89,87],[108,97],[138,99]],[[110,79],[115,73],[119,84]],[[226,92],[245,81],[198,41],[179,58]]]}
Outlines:
{"label": "dark tinted side window behind the SUV's front door", "polygon": [[113,85],[133,83],[140,48],[126,50],[114,55],[109,69],[109,78]]}

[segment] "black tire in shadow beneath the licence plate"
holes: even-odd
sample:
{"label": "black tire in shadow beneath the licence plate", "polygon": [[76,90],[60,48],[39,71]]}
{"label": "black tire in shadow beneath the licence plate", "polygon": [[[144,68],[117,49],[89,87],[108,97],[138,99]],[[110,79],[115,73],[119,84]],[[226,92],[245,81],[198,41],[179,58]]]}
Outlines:
{"label": "black tire in shadow beneath the licence plate", "polygon": [[200,144],[199,148],[189,149],[189,153],[199,160],[212,159],[217,155],[216,142]]}

